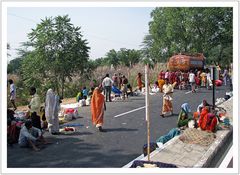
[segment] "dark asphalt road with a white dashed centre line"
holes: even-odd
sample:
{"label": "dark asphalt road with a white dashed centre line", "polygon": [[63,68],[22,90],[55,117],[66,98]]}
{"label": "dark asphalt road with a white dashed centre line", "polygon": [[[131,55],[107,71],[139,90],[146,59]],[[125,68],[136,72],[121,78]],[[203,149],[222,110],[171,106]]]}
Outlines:
{"label": "dark asphalt road with a white dashed centre line", "polygon": [[[218,87],[216,97],[224,97],[226,91],[227,88]],[[173,104],[175,115],[161,118],[162,96],[151,95],[151,141],[176,127],[177,113],[182,103],[188,102],[195,111],[202,99],[211,103],[211,98],[212,91],[206,89],[200,89],[195,94],[176,90]],[[83,107],[82,117],[71,122],[84,125],[79,128],[79,133],[58,136],[45,133],[53,143],[43,147],[40,152],[19,148],[18,145],[8,147],[8,167],[122,167],[141,155],[142,146],[147,142],[144,106],[144,96],[132,97],[127,102],[108,102],[104,118],[106,132],[103,133],[92,127],[90,108]],[[131,113],[119,115],[134,109]]]}

